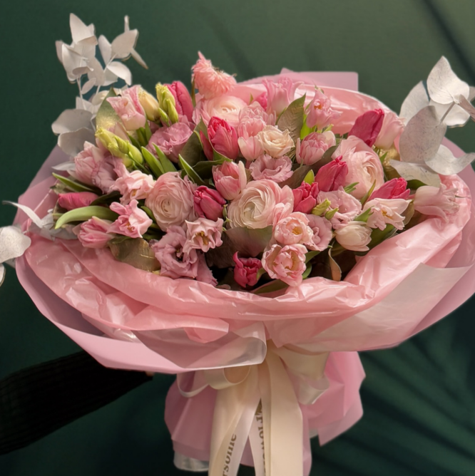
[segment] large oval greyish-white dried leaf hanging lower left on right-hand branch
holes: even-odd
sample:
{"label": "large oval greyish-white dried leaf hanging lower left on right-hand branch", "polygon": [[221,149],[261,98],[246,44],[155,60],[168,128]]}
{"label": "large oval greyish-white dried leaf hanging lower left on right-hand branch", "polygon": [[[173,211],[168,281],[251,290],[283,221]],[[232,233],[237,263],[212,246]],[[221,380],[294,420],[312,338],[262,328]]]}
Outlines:
{"label": "large oval greyish-white dried leaf hanging lower left on right-hand branch", "polygon": [[440,122],[433,106],[419,110],[419,113],[409,120],[399,140],[401,160],[423,164],[434,157],[446,130],[447,126]]}

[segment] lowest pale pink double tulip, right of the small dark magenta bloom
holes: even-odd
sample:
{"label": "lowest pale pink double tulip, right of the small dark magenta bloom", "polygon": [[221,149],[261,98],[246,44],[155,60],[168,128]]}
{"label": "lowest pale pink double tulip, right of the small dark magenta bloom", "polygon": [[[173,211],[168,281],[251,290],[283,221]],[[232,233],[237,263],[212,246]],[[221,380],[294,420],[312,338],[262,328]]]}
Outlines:
{"label": "lowest pale pink double tulip, right of the small dark magenta bloom", "polygon": [[274,244],[262,255],[262,267],[272,279],[280,279],[289,286],[302,284],[305,271],[305,253],[303,244],[289,244],[281,247]]}

